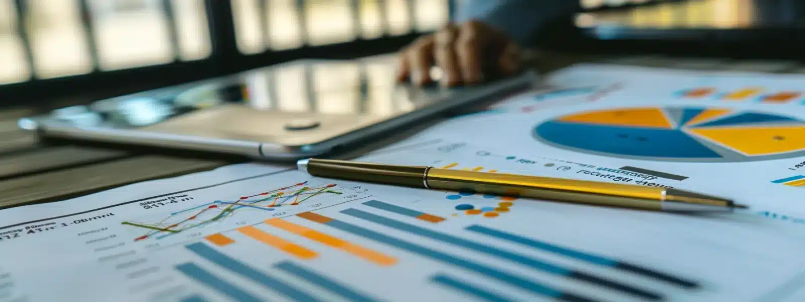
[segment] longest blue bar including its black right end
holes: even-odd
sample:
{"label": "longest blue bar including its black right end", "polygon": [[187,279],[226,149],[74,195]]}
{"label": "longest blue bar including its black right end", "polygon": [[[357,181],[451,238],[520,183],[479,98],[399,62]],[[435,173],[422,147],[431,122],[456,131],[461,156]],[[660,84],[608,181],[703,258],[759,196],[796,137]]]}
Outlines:
{"label": "longest blue bar including its black right end", "polygon": [[419,227],[419,226],[416,226],[416,225],[409,225],[409,224],[407,224],[405,222],[396,221],[394,219],[378,216],[378,215],[375,215],[373,213],[368,213],[368,212],[361,211],[359,209],[345,209],[345,210],[342,210],[341,213],[345,213],[345,214],[347,214],[349,216],[361,218],[361,219],[364,219],[364,220],[367,220],[367,221],[372,221],[372,222],[378,223],[380,225],[386,225],[386,226],[389,226],[389,227],[394,228],[396,230],[401,230],[403,232],[407,232],[407,233],[410,233],[410,234],[417,234],[419,236],[431,238],[431,239],[434,239],[434,240],[438,240],[440,242],[449,243],[449,244],[452,244],[454,246],[461,246],[461,247],[467,248],[469,250],[475,250],[477,252],[488,254],[489,256],[492,256],[492,257],[499,257],[499,258],[502,258],[502,259],[507,259],[507,260],[510,260],[510,261],[512,261],[514,263],[520,263],[522,265],[534,268],[534,269],[539,270],[539,271],[545,271],[547,273],[551,273],[551,274],[554,274],[554,275],[562,275],[562,276],[566,276],[566,277],[568,277],[570,279],[577,279],[577,280],[581,280],[581,281],[584,281],[584,282],[597,284],[598,286],[601,286],[601,287],[612,288],[612,289],[615,289],[615,290],[618,290],[618,291],[621,291],[621,292],[625,292],[625,293],[628,293],[628,294],[631,294],[631,295],[642,296],[642,297],[644,297],[646,299],[650,299],[650,300],[660,300],[660,299],[662,299],[662,296],[660,296],[657,293],[649,292],[649,291],[643,290],[641,288],[635,288],[635,287],[633,287],[631,285],[628,285],[628,284],[625,284],[625,283],[619,283],[617,281],[604,279],[604,278],[598,277],[596,275],[589,275],[589,274],[584,273],[582,271],[573,271],[573,270],[565,268],[565,267],[559,267],[558,265],[555,265],[555,264],[540,261],[539,259],[526,257],[526,256],[523,256],[522,254],[514,254],[514,253],[512,253],[512,252],[510,252],[508,250],[501,250],[501,249],[499,249],[497,247],[494,247],[494,246],[488,246],[488,245],[485,245],[485,244],[472,242],[472,241],[466,240],[464,238],[458,238],[456,236],[452,236],[450,234],[444,234],[444,233],[436,232],[436,231],[433,231],[433,230],[428,230],[426,228]]}

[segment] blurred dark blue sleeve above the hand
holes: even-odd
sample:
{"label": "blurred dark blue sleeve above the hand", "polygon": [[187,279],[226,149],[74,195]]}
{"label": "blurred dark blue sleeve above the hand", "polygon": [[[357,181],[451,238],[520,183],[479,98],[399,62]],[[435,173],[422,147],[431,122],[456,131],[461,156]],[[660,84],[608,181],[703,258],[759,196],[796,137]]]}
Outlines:
{"label": "blurred dark blue sleeve above the hand", "polygon": [[480,20],[527,46],[535,42],[540,27],[579,11],[579,3],[579,0],[457,0],[453,21]]}

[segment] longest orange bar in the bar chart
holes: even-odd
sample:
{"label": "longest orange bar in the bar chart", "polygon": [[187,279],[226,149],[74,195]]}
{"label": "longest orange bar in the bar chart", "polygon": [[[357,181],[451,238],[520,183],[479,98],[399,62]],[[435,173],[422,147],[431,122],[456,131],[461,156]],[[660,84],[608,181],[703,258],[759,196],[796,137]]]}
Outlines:
{"label": "longest orange bar in the bar chart", "polygon": [[[310,213],[310,214],[320,216],[320,215],[315,214],[315,213]],[[306,216],[307,217],[313,217],[310,214],[308,214]],[[299,217],[304,218],[305,216],[299,216]],[[316,219],[322,220],[321,218],[316,218]],[[315,220],[312,220],[312,221],[315,221]],[[332,237],[332,236],[330,236],[328,234],[321,233],[321,232],[319,232],[317,230],[308,229],[308,228],[306,228],[306,227],[304,227],[302,225],[297,225],[295,223],[284,221],[284,220],[279,219],[279,218],[271,218],[271,219],[268,219],[268,220],[263,221],[263,222],[265,222],[266,225],[271,225],[271,226],[277,227],[277,228],[282,229],[282,230],[287,230],[288,232],[303,236],[303,237],[311,239],[311,240],[313,240],[315,242],[319,242],[319,243],[322,243],[324,245],[327,245],[327,246],[330,246],[330,247],[333,247],[333,248],[336,248],[336,249],[344,250],[345,252],[347,252],[349,254],[353,254],[353,255],[355,255],[355,256],[357,256],[359,258],[368,260],[370,262],[376,263],[376,264],[381,265],[381,266],[390,266],[390,265],[394,265],[394,264],[397,263],[397,259],[394,258],[394,257],[390,257],[390,256],[387,256],[385,254],[378,253],[378,252],[376,252],[374,250],[369,250],[369,249],[367,249],[365,247],[362,247],[362,246],[356,246],[356,245],[354,245],[352,243],[345,242],[344,240]]]}

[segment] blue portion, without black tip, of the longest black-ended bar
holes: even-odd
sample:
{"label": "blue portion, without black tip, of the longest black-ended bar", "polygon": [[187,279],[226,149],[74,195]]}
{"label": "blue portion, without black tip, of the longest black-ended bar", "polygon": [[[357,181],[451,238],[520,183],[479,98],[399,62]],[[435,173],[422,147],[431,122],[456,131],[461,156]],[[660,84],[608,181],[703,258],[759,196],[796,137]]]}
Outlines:
{"label": "blue portion, without black tip, of the longest black-ended bar", "polygon": [[508,259],[510,261],[514,261],[515,263],[520,263],[522,265],[533,267],[540,271],[546,271],[551,274],[570,275],[573,272],[571,270],[568,270],[567,268],[555,266],[551,263],[544,263],[537,259],[531,259],[519,254],[514,254],[508,250],[501,250],[494,246],[487,246],[481,243],[471,242],[469,240],[458,238],[452,235],[427,230],[423,227],[419,227],[416,225],[409,225],[407,223],[395,221],[393,219],[378,216],[373,213],[364,212],[361,211],[360,209],[345,209],[341,211],[341,213],[345,213],[349,216],[358,217],[367,221],[372,221],[374,223],[378,223],[381,225],[386,225],[397,230],[402,230],[403,232],[417,234],[419,236],[431,238],[434,240],[438,240],[440,242],[449,243],[454,246],[461,246],[464,248],[468,248],[470,250],[475,250],[484,254],[489,254],[494,257]]}

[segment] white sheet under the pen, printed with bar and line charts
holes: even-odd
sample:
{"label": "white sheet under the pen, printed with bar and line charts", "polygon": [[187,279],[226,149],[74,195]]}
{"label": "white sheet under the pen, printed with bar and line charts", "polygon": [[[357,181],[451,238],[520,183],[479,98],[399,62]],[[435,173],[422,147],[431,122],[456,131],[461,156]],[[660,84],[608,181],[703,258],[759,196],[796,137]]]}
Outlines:
{"label": "white sheet under the pen, printed with bar and line charts", "polygon": [[[600,178],[462,141],[363,160]],[[196,176],[46,215],[0,211],[0,301],[746,300],[805,271],[801,226],[753,213],[605,209],[256,164]],[[154,186],[155,197],[131,193]]]}

